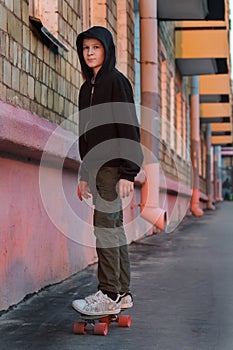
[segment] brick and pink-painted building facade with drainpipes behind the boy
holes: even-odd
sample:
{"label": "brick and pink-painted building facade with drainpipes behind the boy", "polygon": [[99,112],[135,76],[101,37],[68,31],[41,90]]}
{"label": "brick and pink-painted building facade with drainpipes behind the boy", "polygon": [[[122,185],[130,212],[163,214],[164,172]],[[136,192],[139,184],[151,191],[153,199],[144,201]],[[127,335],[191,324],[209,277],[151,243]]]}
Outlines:
{"label": "brick and pink-painted building facade with drainpipes behind the boy", "polygon": [[113,34],[141,123],[145,160],[124,205],[129,243],[222,198],[221,146],[232,146],[227,0],[188,9],[0,0],[0,310],[96,261],[92,204],[76,195],[76,37],[93,25]]}

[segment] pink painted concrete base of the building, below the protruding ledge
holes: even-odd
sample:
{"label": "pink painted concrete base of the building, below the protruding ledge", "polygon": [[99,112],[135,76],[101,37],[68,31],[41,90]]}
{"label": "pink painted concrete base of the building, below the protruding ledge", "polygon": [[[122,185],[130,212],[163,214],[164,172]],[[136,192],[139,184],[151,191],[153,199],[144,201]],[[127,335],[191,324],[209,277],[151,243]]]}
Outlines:
{"label": "pink painted concrete base of the building, below the protruding ledge", "polygon": [[[96,261],[92,208],[77,198],[76,172],[63,171],[62,198],[57,186],[60,171],[45,169],[50,178],[45,198],[39,170],[39,164],[0,158],[0,310]],[[186,214],[187,201],[180,200],[177,206],[174,198],[169,200],[168,211],[177,226]],[[129,243],[154,231],[140,217],[139,207],[132,208],[132,203],[139,201],[140,188],[124,202]],[[77,224],[66,211],[67,203],[78,218]]]}

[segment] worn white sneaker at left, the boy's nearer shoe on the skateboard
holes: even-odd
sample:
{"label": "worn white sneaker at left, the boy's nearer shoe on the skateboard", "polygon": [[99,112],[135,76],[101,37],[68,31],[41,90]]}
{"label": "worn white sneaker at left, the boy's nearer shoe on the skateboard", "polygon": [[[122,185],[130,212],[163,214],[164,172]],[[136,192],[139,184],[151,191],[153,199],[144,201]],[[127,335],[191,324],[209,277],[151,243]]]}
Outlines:
{"label": "worn white sneaker at left, the boy's nearer shoe on the skateboard", "polygon": [[121,297],[119,295],[114,301],[99,291],[85,299],[74,300],[72,306],[78,312],[88,316],[114,315],[121,311]]}

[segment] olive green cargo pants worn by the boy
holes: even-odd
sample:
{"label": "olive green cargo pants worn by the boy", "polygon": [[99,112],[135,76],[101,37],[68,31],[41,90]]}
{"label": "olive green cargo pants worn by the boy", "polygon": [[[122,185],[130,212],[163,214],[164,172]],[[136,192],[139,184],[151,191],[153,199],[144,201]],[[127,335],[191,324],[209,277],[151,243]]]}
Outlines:
{"label": "olive green cargo pants worn by the boy", "polygon": [[95,206],[98,289],[113,293],[127,292],[130,288],[130,262],[122,203],[117,193],[118,168],[102,167],[97,174],[93,172],[89,175]]}

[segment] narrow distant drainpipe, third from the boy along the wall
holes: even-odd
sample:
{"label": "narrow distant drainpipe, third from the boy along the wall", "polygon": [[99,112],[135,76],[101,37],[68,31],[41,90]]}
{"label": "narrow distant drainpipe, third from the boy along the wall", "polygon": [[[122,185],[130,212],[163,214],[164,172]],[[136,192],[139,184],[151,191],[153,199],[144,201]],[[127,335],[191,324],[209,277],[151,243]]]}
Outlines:
{"label": "narrow distant drainpipe, third from the boy along the wall", "polygon": [[215,210],[213,205],[213,194],[212,194],[212,171],[211,171],[211,124],[206,126],[206,189],[208,196],[207,209]]}

